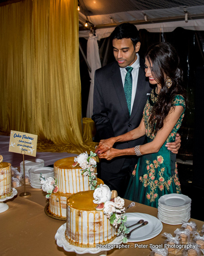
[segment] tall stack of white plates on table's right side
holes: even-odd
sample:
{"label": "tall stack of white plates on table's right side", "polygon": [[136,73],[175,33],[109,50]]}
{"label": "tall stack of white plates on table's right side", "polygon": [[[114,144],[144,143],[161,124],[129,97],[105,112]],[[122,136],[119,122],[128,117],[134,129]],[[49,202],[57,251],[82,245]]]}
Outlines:
{"label": "tall stack of white plates on table's right side", "polygon": [[158,200],[158,219],[170,225],[180,225],[190,219],[191,199],[182,194],[164,195]]}

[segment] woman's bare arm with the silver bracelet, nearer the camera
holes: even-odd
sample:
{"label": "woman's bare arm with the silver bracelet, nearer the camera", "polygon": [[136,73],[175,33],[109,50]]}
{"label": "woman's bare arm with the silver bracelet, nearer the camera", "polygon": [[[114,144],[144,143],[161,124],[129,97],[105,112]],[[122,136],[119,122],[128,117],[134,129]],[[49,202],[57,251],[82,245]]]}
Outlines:
{"label": "woman's bare arm with the silver bracelet, nearer the camera", "polygon": [[[140,146],[140,152],[142,154],[156,153],[159,151],[159,149],[165,143],[171,131],[173,130],[179,117],[183,113],[183,110],[184,108],[182,106],[176,106],[171,108],[168,116],[164,120],[164,126],[162,127],[162,129],[160,129],[157,132],[154,140]],[[135,155],[135,148],[126,148],[126,149],[111,148],[110,150],[102,154],[99,154],[99,157],[106,158],[107,160],[111,160],[112,158],[116,156],[121,156],[121,155]]]}

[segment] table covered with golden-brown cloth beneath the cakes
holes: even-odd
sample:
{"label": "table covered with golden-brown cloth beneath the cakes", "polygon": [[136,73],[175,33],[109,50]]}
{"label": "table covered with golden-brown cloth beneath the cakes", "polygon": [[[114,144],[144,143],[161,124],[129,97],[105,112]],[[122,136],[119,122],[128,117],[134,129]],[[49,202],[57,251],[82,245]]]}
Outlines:
{"label": "table covered with golden-brown cloth beneath the cakes", "polygon": [[[55,234],[65,221],[51,218],[45,214],[46,193],[41,189],[32,188],[30,185],[26,185],[26,191],[31,193],[29,198],[19,196],[24,192],[23,186],[18,187],[17,191],[17,196],[6,201],[9,209],[0,213],[0,255],[75,256],[74,252],[66,252],[56,244]],[[130,203],[131,201],[125,200],[125,206]],[[136,203],[136,206],[129,209],[128,212],[141,212],[157,216],[156,208],[139,203]],[[203,221],[190,220],[195,221],[198,230],[201,230]],[[181,225],[171,226],[163,223],[163,230],[158,236],[137,244],[161,244],[166,239],[161,236],[162,233],[167,232],[173,235],[174,231],[180,227]],[[108,251],[108,255],[125,255],[127,250],[129,255],[137,256],[149,255],[151,252],[149,246],[148,248],[134,248],[134,243],[128,244],[130,245],[128,249],[113,249]]]}

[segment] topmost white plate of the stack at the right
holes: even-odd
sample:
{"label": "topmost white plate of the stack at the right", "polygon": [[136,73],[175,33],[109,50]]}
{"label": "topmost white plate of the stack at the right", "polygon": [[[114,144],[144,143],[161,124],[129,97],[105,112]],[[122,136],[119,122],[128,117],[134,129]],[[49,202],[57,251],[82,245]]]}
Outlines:
{"label": "topmost white plate of the stack at the right", "polygon": [[180,207],[189,204],[191,199],[183,194],[168,194],[160,197],[158,202],[166,206]]}

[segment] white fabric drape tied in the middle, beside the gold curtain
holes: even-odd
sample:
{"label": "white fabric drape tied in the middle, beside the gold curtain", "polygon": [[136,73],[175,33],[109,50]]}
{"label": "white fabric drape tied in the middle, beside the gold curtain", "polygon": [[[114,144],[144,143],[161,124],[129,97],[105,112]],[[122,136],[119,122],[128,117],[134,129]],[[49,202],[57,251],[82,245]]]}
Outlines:
{"label": "white fabric drape tied in the middle, beside the gold curtain", "polygon": [[99,57],[99,47],[97,42],[98,36],[93,34],[89,35],[87,42],[87,61],[91,67],[91,72],[89,72],[91,78],[89,99],[87,105],[87,117],[91,118],[93,113],[93,97],[94,97],[94,75],[95,71],[101,68],[101,61]]}

